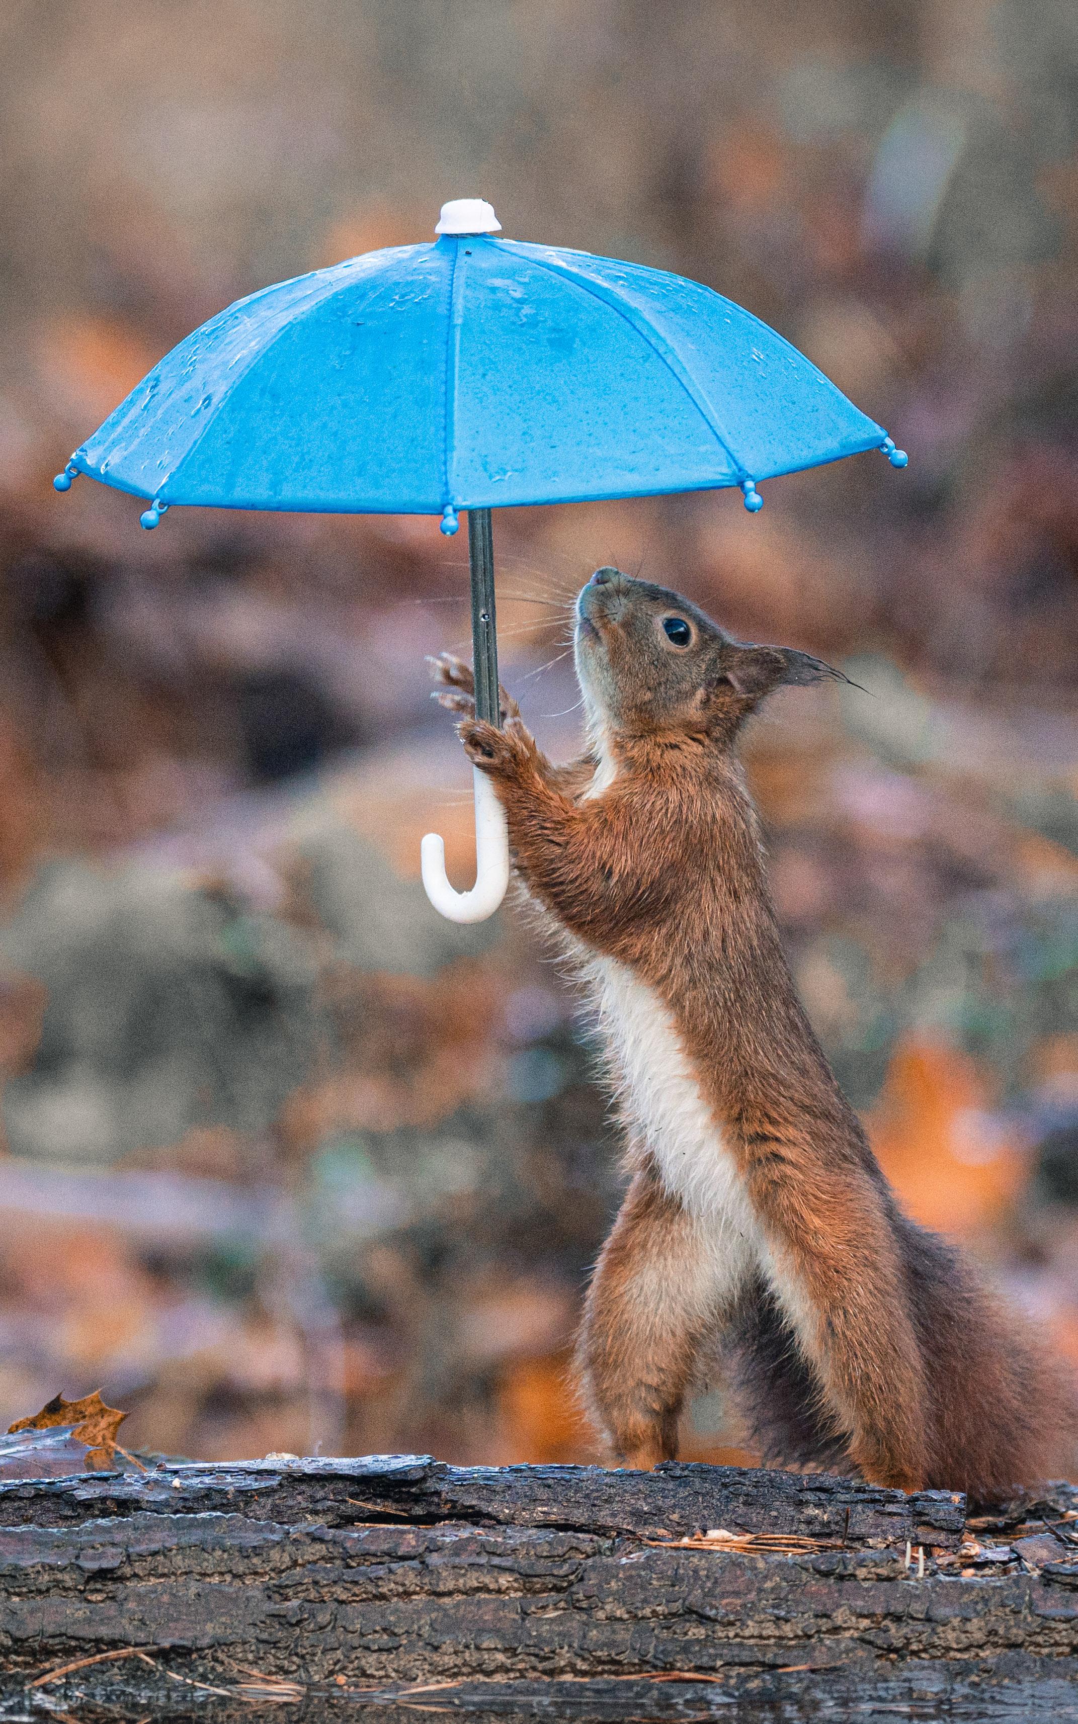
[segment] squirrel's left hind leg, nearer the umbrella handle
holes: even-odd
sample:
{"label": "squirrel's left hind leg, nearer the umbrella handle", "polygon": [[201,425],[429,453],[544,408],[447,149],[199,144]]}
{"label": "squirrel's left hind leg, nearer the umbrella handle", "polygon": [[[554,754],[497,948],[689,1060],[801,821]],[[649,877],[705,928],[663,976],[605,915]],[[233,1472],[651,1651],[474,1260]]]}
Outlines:
{"label": "squirrel's left hind leg, nearer the umbrella handle", "polygon": [[718,1246],[650,1167],[633,1177],[592,1277],[576,1353],[592,1419],[624,1465],[678,1453],[700,1353],[735,1298],[738,1265]]}

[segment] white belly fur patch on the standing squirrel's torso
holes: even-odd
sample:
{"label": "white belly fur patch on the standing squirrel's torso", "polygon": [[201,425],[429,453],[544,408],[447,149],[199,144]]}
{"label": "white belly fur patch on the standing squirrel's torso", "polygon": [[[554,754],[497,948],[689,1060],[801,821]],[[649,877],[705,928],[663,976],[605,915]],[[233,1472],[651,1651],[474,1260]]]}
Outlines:
{"label": "white belly fur patch on the standing squirrel's torso", "polygon": [[666,1190],[716,1234],[736,1283],[761,1262],[759,1229],[674,1021],[624,964],[593,957],[588,974],[626,1115],[647,1143]]}

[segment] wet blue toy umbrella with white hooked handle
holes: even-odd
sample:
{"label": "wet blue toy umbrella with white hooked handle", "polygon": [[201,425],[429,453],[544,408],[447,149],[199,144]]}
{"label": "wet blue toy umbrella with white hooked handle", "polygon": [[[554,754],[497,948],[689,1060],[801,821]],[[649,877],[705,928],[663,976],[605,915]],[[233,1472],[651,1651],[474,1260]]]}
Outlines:
{"label": "wet blue toy umbrella with white hooked handle", "polygon": [[[76,474],[174,505],[467,510],[476,710],[498,722],[490,510],[757,484],[880,448],[883,426],[774,329],[711,288],[588,252],[498,240],[481,198],[402,245],[262,288],[195,329],[74,452]],[[509,879],[476,772],[478,879],[455,893],[423,841],[431,902],[479,921]]]}

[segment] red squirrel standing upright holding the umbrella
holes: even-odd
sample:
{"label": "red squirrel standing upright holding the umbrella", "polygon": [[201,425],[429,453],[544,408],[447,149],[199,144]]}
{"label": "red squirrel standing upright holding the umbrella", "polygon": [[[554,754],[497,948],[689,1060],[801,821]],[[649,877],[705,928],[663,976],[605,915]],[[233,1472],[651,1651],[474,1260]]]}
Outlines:
{"label": "red squirrel standing upright holding the umbrella", "polygon": [[562,767],[505,693],[483,724],[471,671],[433,665],[592,995],[624,1126],[578,1346],[612,1457],[674,1459],[718,1357],[773,1464],[981,1502],[1064,1471],[1059,1367],[902,1214],[783,953],[738,734],[773,690],[840,672],[617,569],[581,590],[574,650],[592,748]]}

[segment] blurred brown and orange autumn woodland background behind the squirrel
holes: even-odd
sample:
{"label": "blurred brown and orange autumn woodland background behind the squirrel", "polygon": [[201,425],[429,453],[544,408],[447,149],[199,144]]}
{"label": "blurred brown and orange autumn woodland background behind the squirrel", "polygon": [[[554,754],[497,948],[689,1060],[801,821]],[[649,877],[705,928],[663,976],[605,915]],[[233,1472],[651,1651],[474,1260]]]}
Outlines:
{"label": "blurred brown and orange autumn woodland background behind the squirrel", "polygon": [[[471,867],[464,534],[50,484],[224,303],[467,195],[714,284],[909,450],[498,514],[504,676],[569,753],[614,562],[864,684],[749,746],[799,984],[907,1207],[1078,1360],[1073,0],[7,0],[0,155],[0,1422],[592,1455],[588,1033],[417,883],[429,824]],[[740,1443],[700,1395],[685,1452]]]}

